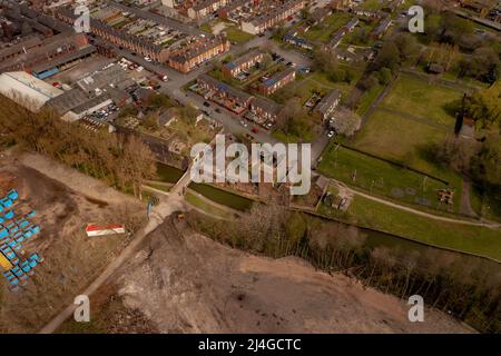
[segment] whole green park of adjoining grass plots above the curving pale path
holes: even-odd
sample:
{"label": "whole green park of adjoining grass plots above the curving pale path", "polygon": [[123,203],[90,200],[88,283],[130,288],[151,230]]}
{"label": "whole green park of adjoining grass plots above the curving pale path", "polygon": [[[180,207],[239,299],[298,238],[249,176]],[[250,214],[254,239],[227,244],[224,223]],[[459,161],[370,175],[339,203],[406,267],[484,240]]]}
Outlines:
{"label": "whole green park of adjoining grass plots above the curving pale path", "polygon": [[[433,161],[454,135],[451,108],[462,93],[403,75],[350,139],[331,144],[320,170],[350,186],[419,208],[461,212],[462,178]],[[453,192],[452,202],[439,191]]]}

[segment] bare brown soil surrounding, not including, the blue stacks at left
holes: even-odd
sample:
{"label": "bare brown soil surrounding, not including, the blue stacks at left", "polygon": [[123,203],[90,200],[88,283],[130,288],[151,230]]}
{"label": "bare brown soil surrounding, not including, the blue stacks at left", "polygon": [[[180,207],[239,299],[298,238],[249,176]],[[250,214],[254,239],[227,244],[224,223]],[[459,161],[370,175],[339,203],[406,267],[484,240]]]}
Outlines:
{"label": "bare brown soil surrounding, not including, the blue stacks at left", "polygon": [[23,249],[27,254],[39,253],[45,261],[18,293],[10,291],[0,276],[0,332],[37,332],[71,303],[130,239],[126,235],[89,239],[85,226],[116,221],[135,227],[145,212],[135,199],[35,155],[17,160],[2,154],[0,194],[11,188],[20,194],[17,211],[36,209],[36,222],[41,227]]}

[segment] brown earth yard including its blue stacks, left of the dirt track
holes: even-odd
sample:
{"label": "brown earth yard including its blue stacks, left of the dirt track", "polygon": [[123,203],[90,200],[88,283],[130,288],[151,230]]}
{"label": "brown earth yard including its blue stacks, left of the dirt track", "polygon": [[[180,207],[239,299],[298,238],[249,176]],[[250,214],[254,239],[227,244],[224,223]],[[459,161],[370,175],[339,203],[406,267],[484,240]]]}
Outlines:
{"label": "brown earth yard including its blue stacks, left of the dirt track", "polygon": [[[58,168],[65,169],[39,156],[1,154],[1,333],[38,332],[127,246],[146,219],[138,200]],[[126,230],[86,234],[88,224],[109,222],[124,224]]]}

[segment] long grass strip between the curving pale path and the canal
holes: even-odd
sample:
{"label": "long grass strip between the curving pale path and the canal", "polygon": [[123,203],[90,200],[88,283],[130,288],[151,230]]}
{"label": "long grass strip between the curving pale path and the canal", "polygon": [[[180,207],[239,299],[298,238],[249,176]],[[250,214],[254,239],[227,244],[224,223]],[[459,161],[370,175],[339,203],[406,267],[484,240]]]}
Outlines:
{"label": "long grass strip between the curving pale path and the canal", "polygon": [[501,260],[501,230],[434,220],[360,196],[346,212],[332,214],[361,227]]}

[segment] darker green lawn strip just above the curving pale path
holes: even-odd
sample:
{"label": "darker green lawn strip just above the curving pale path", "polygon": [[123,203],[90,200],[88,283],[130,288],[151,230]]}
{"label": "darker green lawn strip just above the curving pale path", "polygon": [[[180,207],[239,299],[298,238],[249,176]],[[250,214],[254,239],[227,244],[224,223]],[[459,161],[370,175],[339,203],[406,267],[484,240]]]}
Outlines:
{"label": "darker green lawn strip just above the curving pale path", "polygon": [[[322,156],[318,170],[327,177],[361,188],[428,208],[436,207],[436,190],[445,184],[424,175],[401,168],[381,159],[344,148],[332,142]],[[356,170],[356,179],[352,176]]]}

